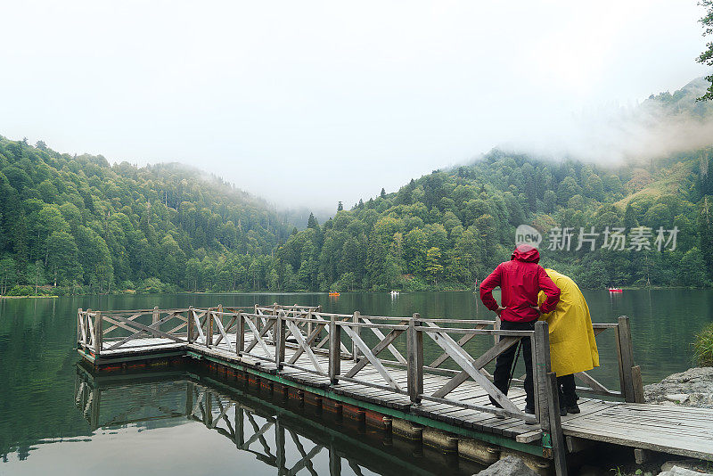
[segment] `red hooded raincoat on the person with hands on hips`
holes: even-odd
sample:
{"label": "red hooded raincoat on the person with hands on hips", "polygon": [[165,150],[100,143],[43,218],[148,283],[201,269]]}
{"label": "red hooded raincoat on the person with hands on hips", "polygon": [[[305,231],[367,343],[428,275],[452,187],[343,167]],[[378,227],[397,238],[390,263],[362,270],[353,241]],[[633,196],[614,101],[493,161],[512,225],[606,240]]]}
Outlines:
{"label": "red hooded raincoat on the person with hands on hips", "polygon": [[500,286],[502,306],[500,318],[504,321],[524,323],[536,321],[537,293],[544,291],[547,299],[540,306],[543,313],[552,312],[560,300],[560,289],[554,285],[545,269],[537,264],[540,253],[537,248],[520,244],[512,251],[512,258],[497,265],[495,271],[480,283],[480,300],[491,311],[497,309],[493,290]]}

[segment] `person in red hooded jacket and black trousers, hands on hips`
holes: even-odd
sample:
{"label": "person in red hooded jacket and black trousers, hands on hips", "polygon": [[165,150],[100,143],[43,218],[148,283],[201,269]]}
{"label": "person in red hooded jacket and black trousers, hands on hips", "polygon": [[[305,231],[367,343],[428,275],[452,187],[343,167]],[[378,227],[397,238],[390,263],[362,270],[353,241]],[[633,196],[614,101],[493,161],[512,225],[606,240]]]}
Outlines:
{"label": "person in red hooded jacket and black trousers, hands on hips", "polygon": [[[520,244],[512,251],[510,261],[499,264],[487,278],[480,283],[480,300],[486,308],[495,311],[502,321],[500,328],[504,331],[533,331],[540,312],[551,312],[560,300],[560,289],[545,273],[545,269],[537,264],[540,253],[529,244]],[[493,298],[493,290],[500,286],[502,291],[501,304],[498,306]],[[547,299],[537,306],[537,294],[545,292]],[[532,352],[530,339],[522,342],[522,355],[525,359],[525,413],[535,413],[535,399],[532,384]],[[512,361],[515,349],[512,346],[497,357],[496,370],[493,373],[493,383],[507,395],[510,381]],[[490,401],[500,406],[492,397]]]}

